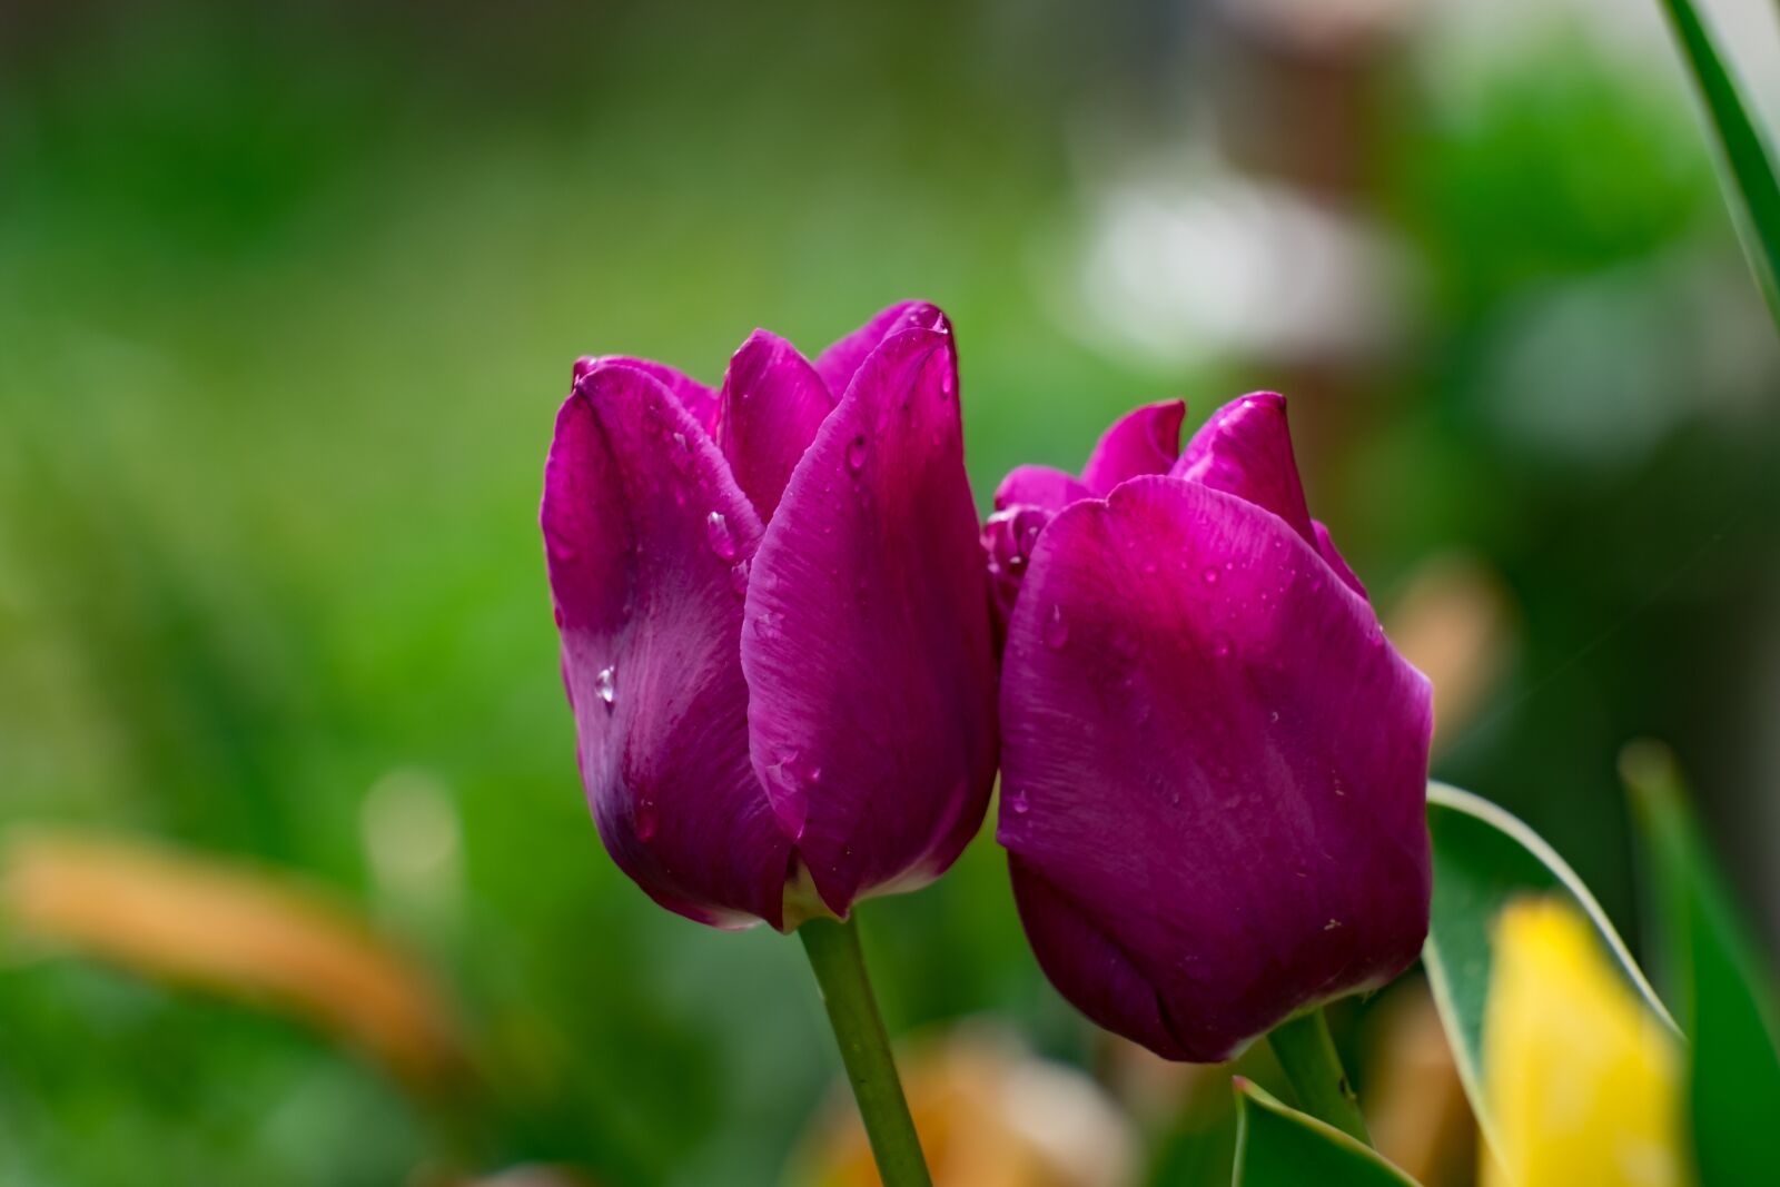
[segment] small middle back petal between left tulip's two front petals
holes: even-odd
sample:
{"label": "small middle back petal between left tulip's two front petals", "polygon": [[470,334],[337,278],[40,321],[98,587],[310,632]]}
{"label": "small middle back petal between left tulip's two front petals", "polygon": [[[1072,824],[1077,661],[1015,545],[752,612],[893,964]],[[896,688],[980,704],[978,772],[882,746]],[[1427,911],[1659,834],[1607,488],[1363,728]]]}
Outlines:
{"label": "small middle back petal between left tulip's two front petals", "polygon": [[810,361],[778,335],[756,329],[723,377],[717,443],[730,470],[771,520],[790,472],[835,408]]}

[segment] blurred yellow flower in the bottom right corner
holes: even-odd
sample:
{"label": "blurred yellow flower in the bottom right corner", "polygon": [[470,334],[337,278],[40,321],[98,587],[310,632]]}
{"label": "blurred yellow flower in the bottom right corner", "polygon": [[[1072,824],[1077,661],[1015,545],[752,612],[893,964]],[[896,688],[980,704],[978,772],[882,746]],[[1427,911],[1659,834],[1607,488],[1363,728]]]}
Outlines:
{"label": "blurred yellow flower in the bottom right corner", "polygon": [[1485,1009],[1485,1187],[1680,1187],[1680,1041],[1558,899],[1497,920]]}

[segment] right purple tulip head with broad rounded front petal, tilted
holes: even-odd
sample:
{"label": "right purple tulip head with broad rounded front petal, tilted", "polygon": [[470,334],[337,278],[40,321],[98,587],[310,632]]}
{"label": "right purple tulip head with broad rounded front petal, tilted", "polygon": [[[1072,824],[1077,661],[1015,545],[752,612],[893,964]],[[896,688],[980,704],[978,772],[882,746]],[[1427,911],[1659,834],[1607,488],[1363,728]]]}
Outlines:
{"label": "right purple tulip head with broad rounded front petal, tilted", "polygon": [[1228,404],[1180,454],[1184,411],[997,493],[997,838],[1057,989],[1214,1062],[1415,961],[1433,717],[1305,507],[1285,400]]}

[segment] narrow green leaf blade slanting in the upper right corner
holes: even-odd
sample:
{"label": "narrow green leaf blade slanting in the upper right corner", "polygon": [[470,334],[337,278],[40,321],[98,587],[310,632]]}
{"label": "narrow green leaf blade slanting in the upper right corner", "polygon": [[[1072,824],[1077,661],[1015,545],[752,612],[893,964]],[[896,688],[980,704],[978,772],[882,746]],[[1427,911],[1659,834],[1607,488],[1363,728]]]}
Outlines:
{"label": "narrow green leaf blade slanting in the upper right corner", "polygon": [[1718,55],[1693,0],[1663,0],[1663,7],[1712,121],[1719,183],[1730,203],[1743,253],[1755,271],[1768,311],[1780,326],[1780,183],[1775,182],[1773,153],[1750,119],[1737,84]]}

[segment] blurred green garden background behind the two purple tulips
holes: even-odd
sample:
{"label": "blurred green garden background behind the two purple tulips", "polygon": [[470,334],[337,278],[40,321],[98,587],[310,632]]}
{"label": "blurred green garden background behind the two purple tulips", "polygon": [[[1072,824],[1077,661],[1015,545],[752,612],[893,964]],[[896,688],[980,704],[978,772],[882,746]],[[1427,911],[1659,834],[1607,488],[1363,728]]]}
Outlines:
{"label": "blurred green garden background behind the two purple tulips", "polygon": [[[0,936],[0,1178],[392,1183],[475,1128],[776,1182],[831,1039],[797,945],[600,849],[539,475],[577,354],[716,381],[911,295],[979,502],[1136,402],[1287,392],[1387,621],[1454,553],[1509,607],[1436,774],[1636,933],[1614,755],[1666,739],[1775,934],[1780,351],[1654,4],[7,0],[0,826],[303,872],[498,1105]],[[863,916],[894,1030],[1093,1062],[988,833]]]}

